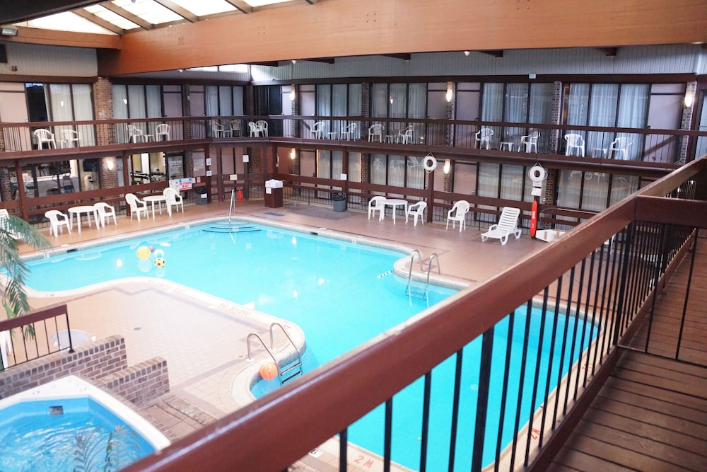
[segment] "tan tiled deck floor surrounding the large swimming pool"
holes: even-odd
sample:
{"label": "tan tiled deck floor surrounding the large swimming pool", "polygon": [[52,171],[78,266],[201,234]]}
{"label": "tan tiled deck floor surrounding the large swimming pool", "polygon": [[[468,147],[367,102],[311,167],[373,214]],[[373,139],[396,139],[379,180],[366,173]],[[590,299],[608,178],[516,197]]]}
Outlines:
{"label": "tan tiled deck floor surrounding the large swimming pool", "polygon": [[[118,224],[103,229],[84,227],[81,234],[49,236],[55,247],[76,246],[125,234],[159,229],[175,224],[194,224],[206,218],[228,216],[228,203],[187,205],[185,212],[173,217],[156,215],[156,219],[131,220],[121,215]],[[262,200],[238,202],[236,217],[257,217],[264,222],[304,226],[308,231],[328,229],[352,237],[366,237],[395,243],[421,251],[423,260],[437,253],[443,277],[462,284],[475,283],[541,250],[547,243],[522,236],[511,238],[506,246],[497,240],[481,242],[481,230],[445,230],[444,224],[405,224],[404,217],[393,224],[390,215],[383,221],[368,219],[366,212],[349,210],[336,213],[330,207],[286,202],[272,211]],[[23,246],[28,253],[30,248]],[[218,273],[218,270],[216,270]],[[125,339],[129,364],[159,356],[167,359],[170,395],[152,405],[146,412],[168,430],[168,437],[184,437],[215,418],[240,408],[232,395],[233,379],[247,364],[247,335],[259,329],[257,316],[242,307],[218,299],[202,297],[189,289],[181,289],[152,280],[121,282],[100,286],[93,292],[68,297],[32,297],[33,309],[66,303],[71,327],[86,330],[97,338],[119,334]],[[100,316],[98,314],[100,313]],[[306,333],[305,333],[306,334]],[[312,455],[292,466],[296,471],[336,470],[337,459],[328,454]],[[370,467],[349,471],[370,471]]]}

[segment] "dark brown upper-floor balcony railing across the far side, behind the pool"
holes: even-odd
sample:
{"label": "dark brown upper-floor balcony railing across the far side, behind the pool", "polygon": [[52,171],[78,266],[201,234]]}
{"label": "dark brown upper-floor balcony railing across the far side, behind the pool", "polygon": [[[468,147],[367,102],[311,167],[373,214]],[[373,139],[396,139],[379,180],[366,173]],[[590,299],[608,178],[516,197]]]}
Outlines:
{"label": "dark brown upper-floor balcony railing across the far side, behind the pool", "polygon": [[[249,122],[267,122],[267,128],[251,132]],[[316,129],[315,123],[322,122]],[[346,132],[349,125],[353,130]],[[378,125],[378,134],[370,129]],[[513,122],[479,122],[463,120],[412,120],[373,117],[305,117],[274,115],[164,117],[132,120],[93,120],[76,122],[0,123],[1,159],[37,156],[27,154],[57,149],[54,154],[71,154],[76,148],[86,149],[119,144],[153,147],[178,142],[212,140],[243,142],[250,139],[331,139],[333,141],[371,142],[382,146],[400,144],[418,149],[421,155],[433,149],[458,148],[486,151],[486,142],[477,134],[488,128],[493,134],[488,139],[489,151],[525,152],[539,154],[583,156],[585,159],[614,159],[650,163],[683,163],[707,152],[707,132],[682,129],[642,129],[620,127],[590,127],[547,125]],[[47,129],[52,142],[35,135],[37,129]],[[410,129],[408,134],[404,134]],[[525,136],[539,133],[534,146],[524,144]],[[579,134],[582,146],[568,149],[566,134]],[[527,139],[525,139],[527,142]]]}

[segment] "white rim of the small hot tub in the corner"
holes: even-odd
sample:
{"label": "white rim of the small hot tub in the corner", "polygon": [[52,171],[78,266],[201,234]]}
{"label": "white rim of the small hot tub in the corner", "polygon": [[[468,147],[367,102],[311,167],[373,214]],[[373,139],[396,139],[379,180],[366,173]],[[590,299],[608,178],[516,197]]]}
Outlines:
{"label": "white rim of the small hot tub in the corner", "polygon": [[62,377],[62,379],[54,380],[47,384],[30,388],[29,390],[4,398],[0,400],[0,411],[23,402],[75,398],[90,398],[96,403],[100,403],[100,405],[110,410],[144,437],[146,441],[155,448],[155,451],[160,451],[170,445],[170,440],[145,418],[142,418],[121,401],[110,396],[109,393],[106,393],[97,386],[89,384],[87,381],[75,375]]}

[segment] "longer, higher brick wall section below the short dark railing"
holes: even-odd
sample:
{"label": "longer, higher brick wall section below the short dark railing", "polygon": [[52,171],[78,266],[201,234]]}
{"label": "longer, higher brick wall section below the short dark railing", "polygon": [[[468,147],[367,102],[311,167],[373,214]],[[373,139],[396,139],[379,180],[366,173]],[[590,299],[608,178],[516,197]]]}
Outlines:
{"label": "longer, higher brick wall section below the short dark railing", "polygon": [[125,340],[114,335],[79,347],[73,353],[55,352],[0,372],[0,396],[14,395],[71,374],[93,381],[125,367]]}

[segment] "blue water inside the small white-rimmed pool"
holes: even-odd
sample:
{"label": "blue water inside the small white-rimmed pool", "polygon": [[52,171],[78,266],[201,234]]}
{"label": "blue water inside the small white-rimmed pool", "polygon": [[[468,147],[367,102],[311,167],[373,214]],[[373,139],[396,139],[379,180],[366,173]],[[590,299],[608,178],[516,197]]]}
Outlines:
{"label": "blue water inside the small white-rimmed pool", "polygon": [[[62,414],[51,414],[50,407],[61,405]],[[116,415],[90,398],[21,402],[0,411],[0,471],[72,472],[78,466],[93,464],[88,470],[104,470],[106,446],[114,427],[123,433],[121,447],[124,466],[152,454],[152,445],[124,425]],[[77,444],[78,437],[87,439],[89,451]],[[77,460],[78,458],[78,460]],[[115,470],[108,468],[106,470]]]}

